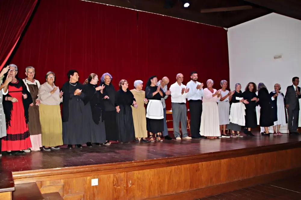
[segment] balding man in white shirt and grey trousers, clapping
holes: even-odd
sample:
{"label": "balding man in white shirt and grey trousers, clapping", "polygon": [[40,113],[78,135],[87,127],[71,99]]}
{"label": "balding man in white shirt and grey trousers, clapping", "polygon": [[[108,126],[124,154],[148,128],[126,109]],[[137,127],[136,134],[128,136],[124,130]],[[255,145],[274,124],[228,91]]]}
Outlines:
{"label": "balding man in white shirt and grey trousers, clapping", "polygon": [[171,95],[171,108],[172,108],[172,123],[173,133],[176,140],[181,140],[180,121],[183,139],[191,139],[187,133],[187,108],[186,96],[189,88],[182,84],[184,76],[181,73],[177,74],[177,82],[172,84],[169,88]]}

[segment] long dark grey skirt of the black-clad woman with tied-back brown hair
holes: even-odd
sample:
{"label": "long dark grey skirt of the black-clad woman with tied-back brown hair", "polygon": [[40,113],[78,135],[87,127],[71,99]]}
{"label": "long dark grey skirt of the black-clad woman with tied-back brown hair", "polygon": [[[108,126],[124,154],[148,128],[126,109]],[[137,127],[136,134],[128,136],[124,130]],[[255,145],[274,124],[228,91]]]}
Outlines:
{"label": "long dark grey skirt of the black-clad woman with tied-back brown hair", "polygon": [[[99,108],[94,108],[99,109]],[[105,143],[106,142],[106,130],[104,127],[104,122],[101,119],[99,124],[95,124],[92,118],[92,110],[90,102],[85,105],[84,110],[84,127],[86,127],[87,134],[89,134],[90,140],[92,143]]]}

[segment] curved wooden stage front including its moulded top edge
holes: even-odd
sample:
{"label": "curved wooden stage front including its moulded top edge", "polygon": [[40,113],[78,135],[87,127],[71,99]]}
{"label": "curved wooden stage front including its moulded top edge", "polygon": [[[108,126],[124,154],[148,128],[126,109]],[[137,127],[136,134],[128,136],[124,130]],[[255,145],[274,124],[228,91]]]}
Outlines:
{"label": "curved wooden stage front including its moulded top edge", "polygon": [[[70,199],[197,199],[301,173],[301,142],[152,160],[12,172]],[[91,186],[92,179],[98,186]]]}

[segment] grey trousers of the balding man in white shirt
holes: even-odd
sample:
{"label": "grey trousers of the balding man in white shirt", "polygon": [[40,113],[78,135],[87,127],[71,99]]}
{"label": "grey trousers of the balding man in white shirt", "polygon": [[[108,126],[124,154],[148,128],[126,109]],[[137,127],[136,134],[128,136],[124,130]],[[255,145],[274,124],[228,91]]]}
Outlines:
{"label": "grey trousers of the balding man in white shirt", "polygon": [[181,137],[180,133],[180,121],[182,136],[187,137],[187,108],[186,104],[171,103],[172,108],[172,123],[173,123],[173,134],[175,137]]}

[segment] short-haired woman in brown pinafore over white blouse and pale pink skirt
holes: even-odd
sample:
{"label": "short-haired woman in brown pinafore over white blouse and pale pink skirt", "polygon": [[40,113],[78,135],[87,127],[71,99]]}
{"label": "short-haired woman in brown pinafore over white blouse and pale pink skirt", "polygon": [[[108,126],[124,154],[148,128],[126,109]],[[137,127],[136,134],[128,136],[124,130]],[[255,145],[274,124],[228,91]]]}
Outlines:
{"label": "short-haired woman in brown pinafore over white blouse and pale pink skirt", "polygon": [[30,134],[30,141],[32,151],[40,151],[40,147],[42,147],[42,139],[41,139],[41,124],[39,117],[39,104],[40,100],[38,97],[40,82],[34,79],[35,76],[35,68],[34,67],[26,67],[25,75],[27,78],[23,79],[24,84],[26,85],[27,91],[29,91],[31,98],[33,99],[33,103],[30,104],[28,109],[28,130]]}

